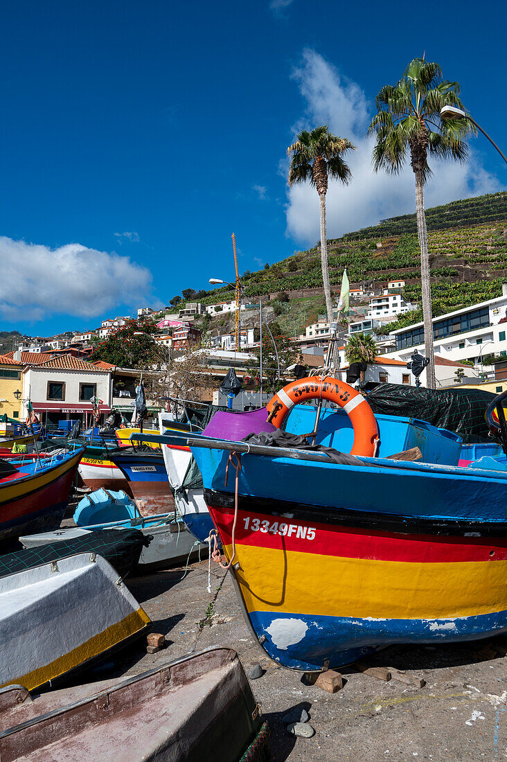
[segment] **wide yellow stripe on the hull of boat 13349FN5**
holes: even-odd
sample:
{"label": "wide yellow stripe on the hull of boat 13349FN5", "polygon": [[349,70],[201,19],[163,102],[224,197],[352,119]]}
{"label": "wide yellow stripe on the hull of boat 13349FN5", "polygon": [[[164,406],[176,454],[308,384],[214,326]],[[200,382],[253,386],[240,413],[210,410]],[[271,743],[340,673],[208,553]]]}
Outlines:
{"label": "wide yellow stripe on the hull of boat 13349FN5", "polygon": [[445,619],[507,610],[507,561],[378,561],[237,544],[235,561],[249,613]]}

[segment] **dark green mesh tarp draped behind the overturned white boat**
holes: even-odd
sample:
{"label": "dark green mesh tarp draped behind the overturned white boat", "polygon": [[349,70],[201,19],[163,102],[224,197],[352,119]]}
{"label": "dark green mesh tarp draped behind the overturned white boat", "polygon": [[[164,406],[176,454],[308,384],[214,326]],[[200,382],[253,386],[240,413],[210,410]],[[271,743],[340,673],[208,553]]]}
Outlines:
{"label": "dark green mesh tarp draped behind the overturned white boat", "polygon": [[97,530],[75,539],[63,539],[37,548],[0,555],[0,578],[13,574],[14,571],[25,571],[34,566],[66,559],[69,555],[87,552],[101,555],[120,577],[125,577],[139,562],[143,547],[148,547],[149,543],[149,535],[145,536],[138,529]]}

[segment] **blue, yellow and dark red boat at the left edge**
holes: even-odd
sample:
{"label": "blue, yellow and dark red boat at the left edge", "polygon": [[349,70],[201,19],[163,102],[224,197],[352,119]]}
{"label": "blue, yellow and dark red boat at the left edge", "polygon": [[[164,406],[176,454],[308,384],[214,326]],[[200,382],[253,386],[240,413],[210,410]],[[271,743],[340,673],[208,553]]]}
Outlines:
{"label": "blue, yellow and dark red boat at the left edge", "polygon": [[0,540],[59,527],[83,452],[59,449],[16,465],[0,459]]}

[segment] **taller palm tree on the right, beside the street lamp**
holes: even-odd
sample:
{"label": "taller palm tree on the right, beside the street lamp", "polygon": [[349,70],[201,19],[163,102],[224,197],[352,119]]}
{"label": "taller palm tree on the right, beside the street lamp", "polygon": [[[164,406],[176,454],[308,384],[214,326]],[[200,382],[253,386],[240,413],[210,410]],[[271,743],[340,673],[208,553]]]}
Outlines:
{"label": "taller palm tree on the right, beside the street lamp", "polygon": [[371,120],[368,134],[375,134],[374,169],[383,168],[397,174],[410,155],[416,174],[416,218],[421,248],[422,315],[424,319],[425,354],[429,364],[427,386],[435,389],[435,356],[433,350],[432,297],[428,264],[428,235],[424,211],[423,187],[432,174],[428,153],[435,158],[454,158],[463,163],[468,155],[466,136],[473,132],[472,123],[463,120],[442,121],[440,110],[445,105],[463,109],[458,97],[460,85],[442,79],[438,63],[415,58],[406,67],[396,85],[385,85],[375,99],[377,114]]}

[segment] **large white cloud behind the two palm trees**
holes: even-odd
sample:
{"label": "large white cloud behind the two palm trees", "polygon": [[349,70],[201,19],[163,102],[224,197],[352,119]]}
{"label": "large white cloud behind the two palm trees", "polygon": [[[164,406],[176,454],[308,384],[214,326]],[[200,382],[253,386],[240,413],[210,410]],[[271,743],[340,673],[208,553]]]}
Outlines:
{"label": "large white cloud behind the two palm trees", "polygon": [[[303,52],[301,65],[294,69],[292,78],[306,100],[305,114],[294,125],[294,135],[305,127],[328,124],[332,133],[347,137],[357,148],[346,158],[352,171],[351,183],[348,186],[329,184],[328,238],[374,225],[384,217],[415,212],[415,181],[410,165],[397,176],[382,170],[376,173],[371,166],[374,139],[365,135],[373,104],[367,102],[361,87],[345,78],[314,50]],[[425,187],[426,207],[502,188],[499,180],[483,168],[473,150],[464,165],[435,161],[430,164],[433,177]],[[315,189],[310,184],[296,185],[287,195],[287,233],[300,241],[316,242],[319,199]]]}

